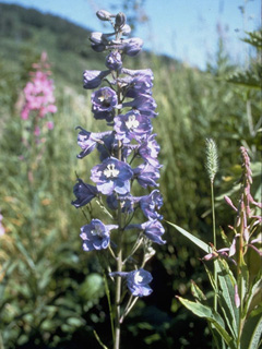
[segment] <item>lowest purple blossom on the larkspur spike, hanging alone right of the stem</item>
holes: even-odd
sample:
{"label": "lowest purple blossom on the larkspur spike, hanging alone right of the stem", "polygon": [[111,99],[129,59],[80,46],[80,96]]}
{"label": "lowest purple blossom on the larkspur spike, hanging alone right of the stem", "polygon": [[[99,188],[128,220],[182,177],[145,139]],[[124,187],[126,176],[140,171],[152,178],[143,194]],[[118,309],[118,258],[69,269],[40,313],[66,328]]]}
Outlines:
{"label": "lowest purple blossom on the larkspur spike, hanging alone right of the stem", "polygon": [[112,277],[120,276],[126,278],[130,292],[135,297],[150,296],[153,291],[148,286],[148,284],[153,280],[153,277],[151,273],[144,270],[143,268],[129,273],[114,272],[109,275]]}

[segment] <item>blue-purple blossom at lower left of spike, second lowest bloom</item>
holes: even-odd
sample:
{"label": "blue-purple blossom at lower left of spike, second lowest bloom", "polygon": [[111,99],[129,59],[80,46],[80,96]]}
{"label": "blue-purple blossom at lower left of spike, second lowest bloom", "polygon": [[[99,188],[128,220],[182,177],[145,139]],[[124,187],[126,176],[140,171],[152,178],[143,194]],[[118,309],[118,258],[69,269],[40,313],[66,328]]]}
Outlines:
{"label": "blue-purple blossom at lower left of spike, second lowest bloom", "polygon": [[83,240],[83,250],[104,250],[110,243],[110,230],[118,229],[116,225],[104,225],[99,219],[92,219],[90,225],[81,228],[81,239]]}

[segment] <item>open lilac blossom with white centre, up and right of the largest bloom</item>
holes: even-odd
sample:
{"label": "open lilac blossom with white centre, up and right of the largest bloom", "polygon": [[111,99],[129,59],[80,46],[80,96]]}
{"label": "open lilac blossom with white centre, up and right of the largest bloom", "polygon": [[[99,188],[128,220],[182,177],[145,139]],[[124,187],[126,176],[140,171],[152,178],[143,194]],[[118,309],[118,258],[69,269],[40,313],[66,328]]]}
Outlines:
{"label": "open lilac blossom with white centre, up and right of the largest bloom", "polygon": [[139,110],[131,110],[126,115],[115,117],[116,139],[123,143],[129,143],[131,140],[140,141],[146,134],[152,132],[152,124],[148,117],[143,116]]}

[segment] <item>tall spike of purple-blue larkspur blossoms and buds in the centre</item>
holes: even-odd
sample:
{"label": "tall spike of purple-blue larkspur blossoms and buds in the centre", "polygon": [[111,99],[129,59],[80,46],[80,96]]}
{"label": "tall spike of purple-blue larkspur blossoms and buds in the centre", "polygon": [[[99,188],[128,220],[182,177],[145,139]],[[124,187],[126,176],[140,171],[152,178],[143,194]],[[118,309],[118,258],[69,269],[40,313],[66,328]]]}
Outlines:
{"label": "tall spike of purple-blue larkspur blossoms and buds in the centre", "polygon": [[[114,249],[118,254],[124,232],[132,229],[138,239],[130,251],[134,253],[135,245],[141,245],[139,242],[143,241],[146,254],[152,242],[165,243],[162,239],[164,227],[159,221],[163,216],[158,213],[163,205],[159,190],[154,189],[143,196],[132,195],[135,182],[143,189],[158,186],[162,166],[157,156],[160,147],[152,127],[152,119],[157,116],[157,106],[152,97],[154,76],[151,69],[130,70],[122,67],[123,57],[135,56],[143,44],[140,38],[127,38],[131,28],[126,23],[126,15],[98,11],[97,16],[109,22],[114,32],[91,34],[92,48],[97,52],[107,52],[106,70],[85,70],[83,87],[95,88],[91,95],[92,112],[96,120],[104,120],[111,131],[94,133],[76,128],[80,130],[78,144],[81,147],[78,158],[82,159],[97,149],[100,163],[91,170],[91,180],[95,185],[78,179],[73,190],[76,200],[72,204],[76,208],[82,207],[96,197],[114,219],[112,225],[93,219],[81,228],[84,251],[110,249],[114,257]],[[142,210],[145,221],[131,225],[136,209]],[[116,243],[112,242],[111,230],[118,230],[115,233]],[[119,239],[119,236],[122,238]],[[143,261],[153,254],[147,253]],[[115,260],[118,258],[116,256]],[[122,266],[124,268],[124,263]],[[122,267],[118,267],[110,276],[124,278],[133,296],[148,296],[152,289],[147,284],[152,276],[143,266],[142,262],[139,268],[135,266],[131,272],[122,272]]]}

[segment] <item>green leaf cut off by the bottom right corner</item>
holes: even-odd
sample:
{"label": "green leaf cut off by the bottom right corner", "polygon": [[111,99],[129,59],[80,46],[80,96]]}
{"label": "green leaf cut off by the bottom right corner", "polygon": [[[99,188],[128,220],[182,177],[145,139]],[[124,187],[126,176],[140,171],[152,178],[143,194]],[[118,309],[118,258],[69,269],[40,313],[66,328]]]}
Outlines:
{"label": "green leaf cut off by the bottom right corner", "polygon": [[250,315],[250,317],[246,321],[242,329],[241,336],[241,348],[245,349],[257,349],[260,345],[260,338],[262,335],[262,316],[261,311],[254,316]]}

